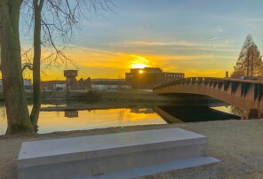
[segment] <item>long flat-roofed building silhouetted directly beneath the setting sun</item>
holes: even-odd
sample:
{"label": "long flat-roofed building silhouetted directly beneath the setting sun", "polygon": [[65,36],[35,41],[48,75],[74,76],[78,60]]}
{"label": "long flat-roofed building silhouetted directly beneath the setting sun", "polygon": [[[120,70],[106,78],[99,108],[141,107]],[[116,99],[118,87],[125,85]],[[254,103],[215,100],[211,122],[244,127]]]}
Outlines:
{"label": "long flat-roofed building silhouetted directly beneath the setting sun", "polygon": [[132,89],[153,89],[184,77],[185,74],[163,72],[159,67],[145,67],[131,69],[130,73],[125,74],[125,81]]}

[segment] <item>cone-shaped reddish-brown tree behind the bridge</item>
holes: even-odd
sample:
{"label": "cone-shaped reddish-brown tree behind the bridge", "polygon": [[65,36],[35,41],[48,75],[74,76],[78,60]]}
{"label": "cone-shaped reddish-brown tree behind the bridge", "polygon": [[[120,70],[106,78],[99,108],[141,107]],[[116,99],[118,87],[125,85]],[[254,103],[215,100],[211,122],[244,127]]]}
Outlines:
{"label": "cone-shaped reddish-brown tree behind the bridge", "polygon": [[247,35],[243,48],[239,54],[232,77],[247,77],[262,75],[263,63],[257,45],[253,42],[251,35]]}

